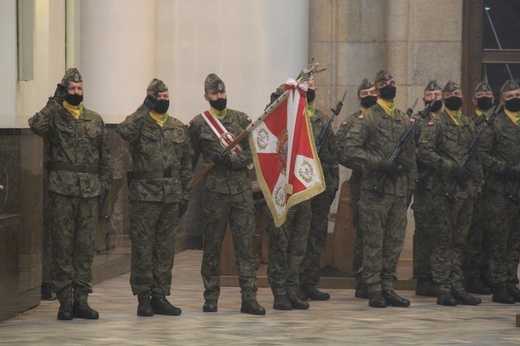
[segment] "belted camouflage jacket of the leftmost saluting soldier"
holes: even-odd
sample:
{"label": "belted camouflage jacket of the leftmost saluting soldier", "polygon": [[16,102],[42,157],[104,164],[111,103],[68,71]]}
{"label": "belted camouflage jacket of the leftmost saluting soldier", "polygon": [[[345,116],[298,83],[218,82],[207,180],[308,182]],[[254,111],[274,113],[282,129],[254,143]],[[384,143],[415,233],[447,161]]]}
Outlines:
{"label": "belted camouflage jacket of the leftmost saluting soldier", "polygon": [[[112,183],[110,142],[99,114],[84,108],[76,119],[50,98],[47,105],[29,119],[29,126],[47,141],[50,165],[54,167],[49,172],[49,191],[95,197]],[[85,169],[83,172],[82,169],[57,170],[59,165]],[[97,173],[88,170],[97,170]]]}

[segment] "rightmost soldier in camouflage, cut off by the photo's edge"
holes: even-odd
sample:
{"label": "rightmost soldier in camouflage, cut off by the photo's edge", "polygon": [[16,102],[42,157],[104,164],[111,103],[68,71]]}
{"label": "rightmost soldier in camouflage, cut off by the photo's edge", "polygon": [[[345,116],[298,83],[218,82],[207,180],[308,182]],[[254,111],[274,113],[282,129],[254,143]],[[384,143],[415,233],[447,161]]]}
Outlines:
{"label": "rightmost soldier in camouflage, cut off by the photo's edge", "polygon": [[492,300],[514,304],[520,301],[516,287],[520,194],[518,189],[514,191],[515,184],[520,183],[520,86],[515,81],[504,83],[500,102],[504,111],[493,122],[490,138],[482,143],[482,162],[490,173],[482,196],[483,218],[491,240]]}

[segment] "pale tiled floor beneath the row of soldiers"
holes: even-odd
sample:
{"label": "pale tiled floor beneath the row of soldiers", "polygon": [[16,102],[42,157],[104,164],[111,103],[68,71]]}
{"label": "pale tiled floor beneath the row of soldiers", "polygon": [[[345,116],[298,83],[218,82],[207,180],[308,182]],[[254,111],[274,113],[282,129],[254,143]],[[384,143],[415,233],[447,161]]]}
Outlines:
{"label": "pale tiled floor beneath the row of soldiers", "polygon": [[311,302],[306,311],[272,309],[269,288],[260,288],[265,316],[241,314],[239,289],[223,287],[218,313],[202,312],[201,252],[177,254],[170,300],[179,317],[138,317],[129,274],[94,286],[90,298],[101,318],[58,321],[57,301],[0,323],[2,345],[371,345],[371,344],[520,344],[515,316],[520,306],[491,303],[441,307],[434,298],[411,299],[409,308],[373,309],[353,297],[352,289],[328,290],[332,299]]}

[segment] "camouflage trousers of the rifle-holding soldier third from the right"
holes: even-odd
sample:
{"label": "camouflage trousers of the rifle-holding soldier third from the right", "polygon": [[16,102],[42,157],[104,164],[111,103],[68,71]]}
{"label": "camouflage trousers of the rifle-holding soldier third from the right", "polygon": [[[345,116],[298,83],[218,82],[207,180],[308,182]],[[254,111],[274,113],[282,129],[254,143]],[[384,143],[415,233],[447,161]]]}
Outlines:
{"label": "camouflage trousers of the rifle-holding soldier third from the right", "polygon": [[473,198],[449,201],[443,194],[432,195],[434,241],[432,278],[437,291],[463,290],[462,251],[466,245],[473,214]]}

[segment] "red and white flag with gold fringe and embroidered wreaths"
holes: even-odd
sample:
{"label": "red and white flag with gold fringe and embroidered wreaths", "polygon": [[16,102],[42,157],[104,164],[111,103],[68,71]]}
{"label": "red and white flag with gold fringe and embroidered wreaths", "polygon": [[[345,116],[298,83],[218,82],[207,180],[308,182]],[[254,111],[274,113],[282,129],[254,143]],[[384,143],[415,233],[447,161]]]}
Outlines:
{"label": "red and white flag with gold fringe and embroidered wreaths", "polygon": [[249,136],[258,183],[276,227],[283,225],[291,206],[325,190],[306,115],[307,88],[306,82],[289,78],[289,96]]}

